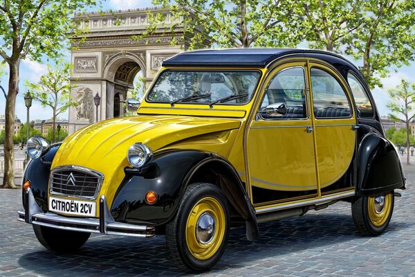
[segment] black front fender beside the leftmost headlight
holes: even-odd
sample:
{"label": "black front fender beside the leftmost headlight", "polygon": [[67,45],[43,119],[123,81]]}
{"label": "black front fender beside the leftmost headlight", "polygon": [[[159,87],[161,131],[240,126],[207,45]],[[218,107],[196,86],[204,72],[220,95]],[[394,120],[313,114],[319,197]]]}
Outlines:
{"label": "black front fender beside the leftmost headlight", "polygon": [[[30,160],[23,176],[23,182],[30,181],[30,189],[33,192],[37,205],[42,208],[42,211],[48,211],[48,188],[49,188],[49,175],[50,166],[52,165],[53,158],[59,144],[50,145],[49,151],[40,159]],[[22,189],[23,206],[26,208],[24,190]]]}

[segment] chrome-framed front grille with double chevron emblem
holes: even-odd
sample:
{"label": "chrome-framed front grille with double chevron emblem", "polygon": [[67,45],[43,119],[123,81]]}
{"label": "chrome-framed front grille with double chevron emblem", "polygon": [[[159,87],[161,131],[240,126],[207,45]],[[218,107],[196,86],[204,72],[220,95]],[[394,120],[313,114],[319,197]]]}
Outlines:
{"label": "chrome-framed front grille with double chevron emblem", "polygon": [[50,193],[95,199],[102,174],[88,168],[64,166],[50,172]]}

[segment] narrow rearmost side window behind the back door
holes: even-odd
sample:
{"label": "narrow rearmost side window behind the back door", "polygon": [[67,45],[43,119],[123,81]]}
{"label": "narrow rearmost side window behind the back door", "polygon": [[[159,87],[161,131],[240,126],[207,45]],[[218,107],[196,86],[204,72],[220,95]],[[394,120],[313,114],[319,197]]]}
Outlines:
{"label": "narrow rearmost side window behind the back door", "polygon": [[367,97],[367,92],[362,83],[350,72],[347,73],[347,82],[349,82],[353,98],[355,98],[356,107],[360,111],[360,117],[373,118],[374,108],[371,105],[369,97]]}

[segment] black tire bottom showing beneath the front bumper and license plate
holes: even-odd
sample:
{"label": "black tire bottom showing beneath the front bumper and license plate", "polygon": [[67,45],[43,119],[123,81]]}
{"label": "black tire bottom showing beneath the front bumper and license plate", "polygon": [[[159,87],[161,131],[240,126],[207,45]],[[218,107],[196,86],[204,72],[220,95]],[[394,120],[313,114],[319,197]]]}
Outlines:
{"label": "black tire bottom showing beneath the front bumper and license plate", "polygon": [[73,253],[80,249],[91,233],[59,230],[33,225],[37,240],[46,249],[59,253]]}

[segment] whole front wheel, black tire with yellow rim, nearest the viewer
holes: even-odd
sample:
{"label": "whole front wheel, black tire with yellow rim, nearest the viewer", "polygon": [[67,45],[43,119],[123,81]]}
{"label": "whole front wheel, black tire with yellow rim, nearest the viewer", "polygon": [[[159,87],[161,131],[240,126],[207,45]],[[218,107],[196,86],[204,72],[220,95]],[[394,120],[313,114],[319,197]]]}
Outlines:
{"label": "whole front wheel, black tire with yellow rim, nearest the viewer", "polygon": [[[198,231],[196,226],[203,225],[206,228]],[[166,226],[170,258],[181,269],[208,270],[225,251],[229,229],[228,202],[221,190],[212,184],[191,184]]]}

